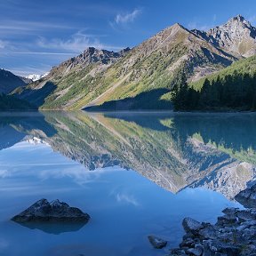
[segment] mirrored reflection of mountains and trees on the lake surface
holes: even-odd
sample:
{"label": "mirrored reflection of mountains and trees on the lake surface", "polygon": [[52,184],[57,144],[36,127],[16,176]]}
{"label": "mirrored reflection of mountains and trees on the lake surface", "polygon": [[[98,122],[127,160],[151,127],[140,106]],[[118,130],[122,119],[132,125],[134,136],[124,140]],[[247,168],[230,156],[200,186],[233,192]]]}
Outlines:
{"label": "mirrored reflection of mountains and trees on the lake surface", "polygon": [[255,114],[42,112],[2,115],[0,127],[0,148],[44,142],[88,170],[133,169],[174,193],[232,199],[255,180]]}

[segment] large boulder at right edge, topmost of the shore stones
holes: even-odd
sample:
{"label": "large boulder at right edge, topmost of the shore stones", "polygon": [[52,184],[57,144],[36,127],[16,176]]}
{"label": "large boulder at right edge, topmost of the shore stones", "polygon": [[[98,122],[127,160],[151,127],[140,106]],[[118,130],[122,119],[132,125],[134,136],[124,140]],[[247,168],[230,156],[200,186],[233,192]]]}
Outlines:
{"label": "large boulder at right edge, topmost of the shore stones", "polygon": [[256,208],[256,184],[238,193],[235,199],[246,208]]}

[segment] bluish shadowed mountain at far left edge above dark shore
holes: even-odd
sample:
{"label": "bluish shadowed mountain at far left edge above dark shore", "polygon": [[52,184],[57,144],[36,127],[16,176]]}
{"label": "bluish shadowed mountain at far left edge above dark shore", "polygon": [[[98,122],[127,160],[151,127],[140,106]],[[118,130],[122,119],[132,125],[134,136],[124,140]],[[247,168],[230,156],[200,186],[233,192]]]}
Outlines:
{"label": "bluish shadowed mountain at far left edge above dark shore", "polygon": [[0,93],[10,93],[19,86],[25,86],[26,80],[20,76],[15,76],[12,72],[0,69]]}

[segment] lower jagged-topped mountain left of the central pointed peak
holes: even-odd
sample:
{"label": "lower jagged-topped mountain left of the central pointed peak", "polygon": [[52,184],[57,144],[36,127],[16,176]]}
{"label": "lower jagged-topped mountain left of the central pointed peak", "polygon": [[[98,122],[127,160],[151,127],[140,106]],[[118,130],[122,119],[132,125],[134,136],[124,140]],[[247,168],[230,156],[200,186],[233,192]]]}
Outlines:
{"label": "lower jagged-topped mountain left of the central pointed peak", "polygon": [[12,94],[30,101],[37,107],[43,105],[42,108],[67,109],[92,90],[93,77],[100,77],[126,52],[129,52],[129,48],[121,52],[109,52],[89,47],[80,55],[53,67],[48,76],[20,87]]}

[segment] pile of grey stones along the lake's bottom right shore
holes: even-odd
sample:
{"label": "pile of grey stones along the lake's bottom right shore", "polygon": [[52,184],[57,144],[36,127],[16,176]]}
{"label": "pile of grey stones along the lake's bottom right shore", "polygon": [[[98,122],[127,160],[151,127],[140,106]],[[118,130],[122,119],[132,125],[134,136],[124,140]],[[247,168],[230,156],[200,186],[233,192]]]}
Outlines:
{"label": "pile of grey stones along the lake's bottom right shore", "polygon": [[256,256],[256,185],[236,195],[247,209],[226,208],[215,225],[191,218],[183,220],[186,231],[179,249],[170,256]]}

